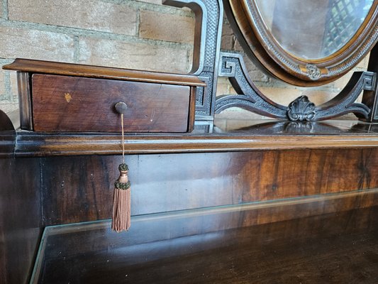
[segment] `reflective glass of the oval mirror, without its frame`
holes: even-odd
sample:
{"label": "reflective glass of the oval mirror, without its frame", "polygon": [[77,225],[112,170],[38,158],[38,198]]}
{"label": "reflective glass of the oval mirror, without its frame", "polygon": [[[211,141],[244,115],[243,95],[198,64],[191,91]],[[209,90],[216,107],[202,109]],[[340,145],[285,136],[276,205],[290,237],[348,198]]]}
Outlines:
{"label": "reflective glass of the oval mirror, without its frame", "polygon": [[374,0],[255,0],[265,26],[291,55],[326,58],[343,48]]}

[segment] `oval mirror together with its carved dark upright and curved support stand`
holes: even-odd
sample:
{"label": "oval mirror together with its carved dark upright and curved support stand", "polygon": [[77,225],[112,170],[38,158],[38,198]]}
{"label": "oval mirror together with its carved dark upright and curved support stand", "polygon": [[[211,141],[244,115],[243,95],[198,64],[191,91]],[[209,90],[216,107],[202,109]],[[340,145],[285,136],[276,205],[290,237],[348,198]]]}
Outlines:
{"label": "oval mirror together with its carved dark upright and curved support stand", "polygon": [[[296,9],[293,1],[298,4]],[[206,82],[206,87],[197,89],[196,121],[212,121],[214,114],[228,107],[241,107],[291,121],[354,113],[362,120],[378,122],[378,48],[373,48],[378,40],[378,1],[164,0],[163,4],[187,6],[196,14],[191,73]],[[220,52],[223,4],[245,53],[274,77],[305,87],[326,84],[348,72],[373,48],[370,72],[356,72],[340,94],[325,104],[316,106],[307,97],[289,106],[276,104],[250,80],[240,55]],[[337,21],[344,25],[343,33],[335,30]],[[319,31],[313,32],[316,29]],[[296,36],[298,31],[304,32]],[[335,38],[341,34],[343,38]],[[218,75],[228,77],[238,94],[216,99]],[[362,103],[356,103],[362,91]]]}

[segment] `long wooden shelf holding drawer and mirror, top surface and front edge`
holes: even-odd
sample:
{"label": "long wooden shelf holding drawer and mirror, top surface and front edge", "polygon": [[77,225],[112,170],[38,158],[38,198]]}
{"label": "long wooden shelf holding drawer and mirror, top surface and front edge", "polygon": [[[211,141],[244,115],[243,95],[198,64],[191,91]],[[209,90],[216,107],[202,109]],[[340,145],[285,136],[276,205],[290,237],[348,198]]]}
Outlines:
{"label": "long wooden shelf holding drawer and mirror, top surface and front edge", "polygon": [[[378,125],[326,121],[215,121],[192,133],[129,133],[126,153],[196,153],[306,148],[373,148]],[[121,154],[121,133],[17,131],[16,156]],[[1,143],[1,140],[0,140]]]}

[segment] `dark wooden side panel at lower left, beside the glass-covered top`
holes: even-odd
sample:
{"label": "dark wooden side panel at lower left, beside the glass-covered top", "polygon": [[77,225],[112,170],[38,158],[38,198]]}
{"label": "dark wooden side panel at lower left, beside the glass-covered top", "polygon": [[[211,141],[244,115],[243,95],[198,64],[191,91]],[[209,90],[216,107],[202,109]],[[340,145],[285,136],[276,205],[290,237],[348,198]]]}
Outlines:
{"label": "dark wooden side panel at lower left, beside the glass-covered top", "polygon": [[0,283],[26,283],[41,234],[40,161],[0,158]]}

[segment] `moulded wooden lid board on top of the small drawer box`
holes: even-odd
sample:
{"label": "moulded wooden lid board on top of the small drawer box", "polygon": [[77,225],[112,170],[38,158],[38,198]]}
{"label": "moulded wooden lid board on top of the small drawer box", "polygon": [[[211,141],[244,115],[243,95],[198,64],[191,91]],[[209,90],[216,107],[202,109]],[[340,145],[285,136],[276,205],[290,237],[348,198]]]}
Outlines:
{"label": "moulded wooden lid board on top of the small drawer box", "polygon": [[101,67],[93,65],[79,65],[72,63],[50,62],[42,60],[16,59],[9,65],[4,65],[5,70],[22,72],[69,75],[79,77],[94,77],[114,80],[128,80],[136,82],[150,82],[159,84],[179,84],[187,86],[201,86],[206,84],[193,75],[181,75],[162,72],[150,72],[142,70],[130,70],[114,67]]}

